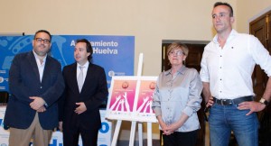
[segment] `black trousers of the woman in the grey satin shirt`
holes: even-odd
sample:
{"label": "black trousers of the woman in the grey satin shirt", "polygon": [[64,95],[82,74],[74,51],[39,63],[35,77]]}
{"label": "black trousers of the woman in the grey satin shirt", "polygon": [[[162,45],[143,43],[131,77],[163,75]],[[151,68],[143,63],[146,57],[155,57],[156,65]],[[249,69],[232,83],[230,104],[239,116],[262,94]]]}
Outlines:
{"label": "black trousers of the woman in the grey satin shirt", "polygon": [[194,146],[197,142],[198,131],[173,132],[170,135],[163,135],[164,146]]}

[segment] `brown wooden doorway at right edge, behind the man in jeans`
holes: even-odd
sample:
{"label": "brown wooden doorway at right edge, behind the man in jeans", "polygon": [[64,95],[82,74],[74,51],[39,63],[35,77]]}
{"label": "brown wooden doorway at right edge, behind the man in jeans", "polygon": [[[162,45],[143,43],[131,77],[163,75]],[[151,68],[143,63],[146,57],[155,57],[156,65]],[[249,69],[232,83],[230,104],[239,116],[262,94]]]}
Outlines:
{"label": "brown wooden doorway at right edge, behind the man in jeans", "polygon": [[[271,52],[271,11],[259,16],[256,20],[249,23],[249,33],[256,36],[259,41],[265,46],[266,50]],[[252,81],[253,89],[256,94],[256,101],[259,101],[263,96],[268,77],[264,70],[258,65],[255,67]],[[267,105],[266,108],[258,112],[258,119],[260,128],[258,131],[259,146],[271,145],[271,104]]]}

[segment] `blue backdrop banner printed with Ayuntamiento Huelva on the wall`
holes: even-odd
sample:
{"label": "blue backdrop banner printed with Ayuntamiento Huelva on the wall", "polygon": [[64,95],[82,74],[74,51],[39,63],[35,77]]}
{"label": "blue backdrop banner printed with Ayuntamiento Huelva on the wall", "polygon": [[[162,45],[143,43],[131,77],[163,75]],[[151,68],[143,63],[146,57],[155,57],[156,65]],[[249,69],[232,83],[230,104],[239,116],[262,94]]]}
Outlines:
{"label": "blue backdrop banner printed with Ayuntamiento Huelva on the wall", "polygon": [[[73,50],[78,39],[87,39],[93,47],[93,63],[105,68],[107,86],[112,76],[133,76],[135,37],[107,35],[53,35],[51,56],[62,68],[73,63]],[[33,35],[0,37],[0,91],[8,89],[8,71],[14,55],[33,50]]]}

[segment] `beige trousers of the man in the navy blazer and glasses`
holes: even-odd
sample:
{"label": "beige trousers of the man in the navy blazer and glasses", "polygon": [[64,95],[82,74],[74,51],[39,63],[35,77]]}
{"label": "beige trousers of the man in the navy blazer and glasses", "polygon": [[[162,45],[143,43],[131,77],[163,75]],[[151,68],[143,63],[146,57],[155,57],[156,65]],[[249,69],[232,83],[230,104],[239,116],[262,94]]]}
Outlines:
{"label": "beige trousers of the man in the navy blazer and glasses", "polygon": [[52,130],[42,129],[39,115],[36,113],[33,123],[27,129],[10,128],[9,146],[29,146],[31,138],[33,138],[34,146],[48,146],[51,133]]}

